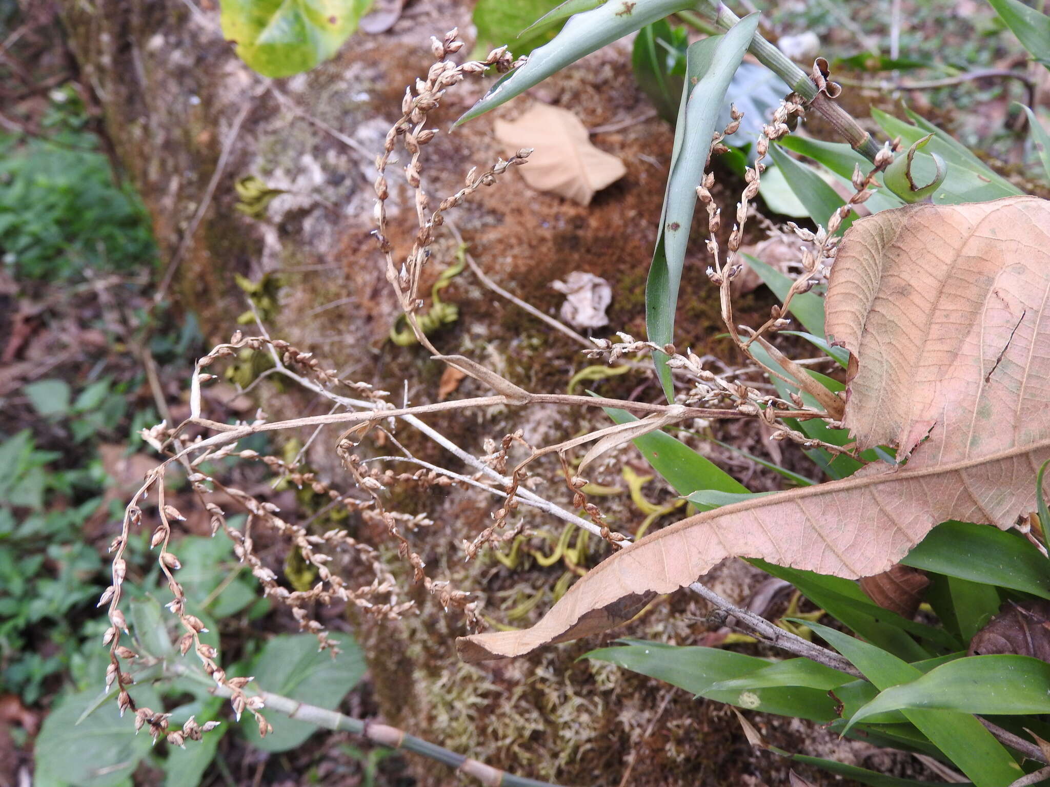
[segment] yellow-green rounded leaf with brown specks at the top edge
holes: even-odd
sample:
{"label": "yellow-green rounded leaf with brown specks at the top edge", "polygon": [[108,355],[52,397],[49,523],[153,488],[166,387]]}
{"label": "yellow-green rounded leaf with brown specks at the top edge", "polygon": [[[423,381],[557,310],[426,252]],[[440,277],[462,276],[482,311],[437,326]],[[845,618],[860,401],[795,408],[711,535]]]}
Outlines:
{"label": "yellow-green rounded leaf with brown specks at the top edge", "polygon": [[223,36],[264,77],[309,71],[339,50],[370,0],[223,0]]}

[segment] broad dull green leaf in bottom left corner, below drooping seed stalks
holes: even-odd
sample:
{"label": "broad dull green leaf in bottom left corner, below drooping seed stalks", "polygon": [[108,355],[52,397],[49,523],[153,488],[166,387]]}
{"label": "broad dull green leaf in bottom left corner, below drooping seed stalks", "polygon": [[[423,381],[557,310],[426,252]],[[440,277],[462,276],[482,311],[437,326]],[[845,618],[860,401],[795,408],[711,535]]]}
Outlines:
{"label": "broad dull green leaf in bottom left corner, below drooping seed stalks", "polygon": [[[140,706],[162,709],[152,686],[131,686],[129,693]],[[34,746],[35,783],[116,787],[127,783],[139,762],[149,753],[150,737],[135,736],[134,719],[130,714],[121,718],[116,702],[77,724],[97,695],[96,689],[70,695],[44,719]]]}

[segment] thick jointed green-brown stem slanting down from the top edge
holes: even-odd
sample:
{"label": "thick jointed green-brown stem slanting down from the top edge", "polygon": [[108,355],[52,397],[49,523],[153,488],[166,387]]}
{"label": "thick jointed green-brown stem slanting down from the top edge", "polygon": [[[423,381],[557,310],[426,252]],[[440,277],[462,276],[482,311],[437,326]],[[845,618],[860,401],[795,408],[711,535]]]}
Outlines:
{"label": "thick jointed green-brown stem slanting down from the top edge", "polygon": [[[697,10],[723,30],[728,30],[740,20],[724,3],[716,0],[699,0]],[[854,150],[869,162],[875,162],[879,146],[872,139],[872,134],[861,128],[860,124],[826,93],[817,90],[813,80],[791,58],[757,33],[751,40],[748,50],[758,59],[759,63],[786,82],[792,90],[805,99],[813,109],[820,112]]]}

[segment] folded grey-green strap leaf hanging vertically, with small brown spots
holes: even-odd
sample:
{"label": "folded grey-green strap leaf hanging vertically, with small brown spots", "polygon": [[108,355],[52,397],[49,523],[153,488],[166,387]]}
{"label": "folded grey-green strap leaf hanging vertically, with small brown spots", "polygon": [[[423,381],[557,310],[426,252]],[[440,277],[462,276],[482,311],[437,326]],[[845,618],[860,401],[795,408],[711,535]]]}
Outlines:
{"label": "folded grey-green strap leaf hanging vertically, with small brown spots", "polygon": [[[671,171],[656,249],[646,282],[646,328],[649,341],[657,344],[673,341],[674,312],[696,208],[696,187],[704,177],[726,90],[758,28],[758,14],[744,17],[726,35],[710,36],[691,44],[686,54],[686,88],[674,128]],[[653,359],[664,392],[671,401],[674,392],[667,357],[654,353]]]}

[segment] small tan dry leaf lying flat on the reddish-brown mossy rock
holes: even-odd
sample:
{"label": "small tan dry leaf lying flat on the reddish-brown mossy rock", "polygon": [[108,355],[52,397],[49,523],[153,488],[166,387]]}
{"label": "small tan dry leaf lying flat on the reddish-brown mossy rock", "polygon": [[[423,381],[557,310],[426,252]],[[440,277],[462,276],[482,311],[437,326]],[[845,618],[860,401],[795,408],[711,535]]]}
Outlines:
{"label": "small tan dry leaf lying flat on the reddish-brown mossy rock", "polygon": [[496,121],[496,139],[514,150],[532,148],[519,168],[526,185],[589,205],[594,193],[627,173],[616,156],[590,143],[584,124],[572,112],[536,104],[517,121]]}

